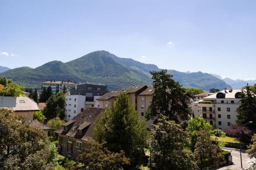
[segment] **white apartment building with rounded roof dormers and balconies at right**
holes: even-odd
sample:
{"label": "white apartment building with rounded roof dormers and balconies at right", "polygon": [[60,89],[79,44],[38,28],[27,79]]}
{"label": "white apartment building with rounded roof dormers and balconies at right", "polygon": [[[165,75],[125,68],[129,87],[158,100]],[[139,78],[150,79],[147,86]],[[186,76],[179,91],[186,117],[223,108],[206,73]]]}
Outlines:
{"label": "white apartment building with rounded roof dormers and balconies at right", "polygon": [[193,103],[195,116],[203,117],[214,129],[223,131],[236,124],[241,89],[224,89]]}

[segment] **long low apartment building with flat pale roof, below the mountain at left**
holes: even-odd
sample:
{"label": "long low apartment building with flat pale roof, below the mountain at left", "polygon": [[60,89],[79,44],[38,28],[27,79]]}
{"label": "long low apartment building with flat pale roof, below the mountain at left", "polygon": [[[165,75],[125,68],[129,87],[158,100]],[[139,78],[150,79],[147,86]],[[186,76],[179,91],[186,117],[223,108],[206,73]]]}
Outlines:
{"label": "long low apartment building with flat pale roof, below the mountain at left", "polygon": [[70,81],[46,81],[46,82],[42,82],[42,87],[49,87],[51,86],[52,88],[52,92],[54,95],[56,95],[57,92],[59,91],[63,91],[63,87],[65,86],[67,91],[71,91],[76,89],[76,83],[70,82]]}

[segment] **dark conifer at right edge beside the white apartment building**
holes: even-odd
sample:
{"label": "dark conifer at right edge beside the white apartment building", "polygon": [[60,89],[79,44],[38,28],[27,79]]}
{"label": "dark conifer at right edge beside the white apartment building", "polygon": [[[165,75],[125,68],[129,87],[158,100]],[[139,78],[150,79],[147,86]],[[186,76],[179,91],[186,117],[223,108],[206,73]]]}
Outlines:
{"label": "dark conifer at right edge beside the white apartment building", "polygon": [[250,86],[247,84],[241,93],[241,105],[237,109],[237,123],[246,124],[250,121],[253,123],[248,127],[256,132],[256,96]]}

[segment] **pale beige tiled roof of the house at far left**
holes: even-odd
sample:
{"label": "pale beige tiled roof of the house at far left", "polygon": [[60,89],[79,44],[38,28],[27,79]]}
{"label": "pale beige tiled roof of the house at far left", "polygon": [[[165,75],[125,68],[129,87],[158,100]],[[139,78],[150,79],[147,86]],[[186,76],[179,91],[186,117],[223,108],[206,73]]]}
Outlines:
{"label": "pale beige tiled roof of the house at far left", "polygon": [[39,111],[37,103],[27,96],[19,96],[16,98],[16,107],[12,108],[13,111]]}

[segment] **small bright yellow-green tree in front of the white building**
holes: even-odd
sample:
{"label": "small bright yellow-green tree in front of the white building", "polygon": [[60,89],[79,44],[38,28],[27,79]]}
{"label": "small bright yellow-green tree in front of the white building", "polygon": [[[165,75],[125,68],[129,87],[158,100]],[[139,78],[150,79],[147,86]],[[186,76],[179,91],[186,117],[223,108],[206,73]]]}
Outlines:
{"label": "small bright yellow-green tree in front of the white building", "polygon": [[201,130],[205,130],[210,134],[212,126],[209,123],[205,122],[205,120],[200,116],[196,116],[195,118],[188,121],[188,127],[186,128],[186,131],[191,136],[190,149],[192,151],[195,150],[198,133]]}

